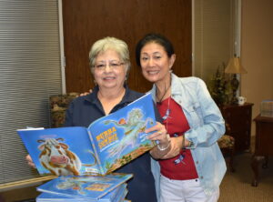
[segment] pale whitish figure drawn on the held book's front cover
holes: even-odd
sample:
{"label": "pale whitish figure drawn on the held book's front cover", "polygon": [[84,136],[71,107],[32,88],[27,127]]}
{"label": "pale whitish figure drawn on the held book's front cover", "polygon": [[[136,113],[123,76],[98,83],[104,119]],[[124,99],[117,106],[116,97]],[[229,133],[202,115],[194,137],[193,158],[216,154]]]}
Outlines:
{"label": "pale whitish figure drawn on the held book's front cover", "polygon": [[140,108],[133,108],[128,113],[126,119],[122,118],[119,121],[105,121],[106,125],[112,123],[117,127],[123,128],[125,131],[125,136],[120,140],[120,142],[109,149],[109,157],[120,157],[127,146],[136,146],[138,134],[144,133],[148,123],[150,125],[154,124],[152,118],[147,117],[146,120],[143,120],[143,116],[143,112]]}

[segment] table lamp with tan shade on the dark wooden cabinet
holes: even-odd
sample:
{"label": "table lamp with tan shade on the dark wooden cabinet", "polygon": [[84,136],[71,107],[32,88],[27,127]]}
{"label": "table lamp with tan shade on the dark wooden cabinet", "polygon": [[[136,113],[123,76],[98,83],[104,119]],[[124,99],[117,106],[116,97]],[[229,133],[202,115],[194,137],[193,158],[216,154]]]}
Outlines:
{"label": "table lamp with tan shade on the dark wooden cabinet", "polygon": [[237,56],[234,56],[229,59],[228,65],[225,69],[225,73],[233,74],[233,78],[230,81],[230,85],[231,85],[231,89],[232,89],[231,104],[237,105],[238,98],[236,97],[236,92],[237,92],[238,86],[239,86],[237,74],[246,74],[248,72],[243,66],[241,66],[239,58]]}

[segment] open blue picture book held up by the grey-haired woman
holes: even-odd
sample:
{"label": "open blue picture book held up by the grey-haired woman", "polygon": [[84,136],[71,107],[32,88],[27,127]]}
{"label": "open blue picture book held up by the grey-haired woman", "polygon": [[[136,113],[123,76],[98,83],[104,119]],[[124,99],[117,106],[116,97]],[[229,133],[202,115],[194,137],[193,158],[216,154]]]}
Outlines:
{"label": "open blue picture book held up by the grey-haired woman", "polygon": [[147,94],[97,119],[88,128],[32,128],[17,132],[41,175],[106,175],[155,146],[144,132],[155,124],[154,103]]}

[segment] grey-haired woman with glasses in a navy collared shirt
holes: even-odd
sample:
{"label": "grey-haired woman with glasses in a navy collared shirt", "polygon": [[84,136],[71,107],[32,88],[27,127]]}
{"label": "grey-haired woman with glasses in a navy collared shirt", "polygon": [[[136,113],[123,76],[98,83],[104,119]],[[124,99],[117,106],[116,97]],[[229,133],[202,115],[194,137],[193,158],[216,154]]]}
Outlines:
{"label": "grey-haired woman with glasses in a navy collared shirt", "polygon": [[[130,60],[124,41],[115,37],[96,41],[91,47],[89,62],[96,87],[91,94],[77,97],[72,101],[66,111],[65,126],[89,126],[97,118],[115,112],[143,96],[126,86]],[[159,132],[151,135],[151,139],[160,141],[159,148],[166,147],[168,140],[165,127],[157,123],[152,130]],[[154,150],[157,150],[157,146]],[[161,153],[167,154],[167,151],[166,149]],[[150,156],[146,153],[116,170],[118,173],[134,174],[133,179],[128,182],[127,199],[135,202],[157,201],[150,161]]]}

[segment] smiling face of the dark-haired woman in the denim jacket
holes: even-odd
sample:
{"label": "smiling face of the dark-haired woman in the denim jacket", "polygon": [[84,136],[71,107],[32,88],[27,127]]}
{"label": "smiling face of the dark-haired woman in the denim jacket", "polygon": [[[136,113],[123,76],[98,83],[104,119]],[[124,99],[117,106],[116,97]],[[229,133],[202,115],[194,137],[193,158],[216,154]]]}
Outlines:
{"label": "smiling face of the dark-haired woman in the denim jacket", "polygon": [[148,43],[140,51],[142,74],[150,82],[165,82],[170,76],[169,70],[175,59],[175,55],[167,56],[167,52],[162,45],[155,42]]}

